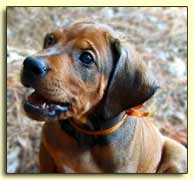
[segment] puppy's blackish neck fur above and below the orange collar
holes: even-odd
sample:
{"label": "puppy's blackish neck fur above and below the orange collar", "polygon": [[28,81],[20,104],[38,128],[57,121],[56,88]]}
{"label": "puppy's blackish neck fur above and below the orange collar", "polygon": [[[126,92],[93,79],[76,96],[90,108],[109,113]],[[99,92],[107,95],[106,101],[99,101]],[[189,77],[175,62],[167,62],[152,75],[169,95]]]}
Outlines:
{"label": "puppy's blackish neck fur above and below the orange collar", "polygon": [[[102,114],[99,113],[92,113],[90,116],[88,116],[88,123],[83,125],[81,128],[90,131],[98,131],[111,128],[120,121],[124,113],[125,112],[122,112],[112,119],[106,119],[105,117],[103,117]],[[128,117],[128,119],[129,120],[124,122],[122,126],[114,132],[97,136],[87,135],[77,131],[77,129],[75,129],[68,120],[59,120],[59,124],[65,133],[75,138],[75,140],[81,147],[86,148],[97,144],[103,145],[115,143],[116,141],[118,141],[118,138],[123,140],[125,138],[129,139],[130,136],[132,137],[135,127],[135,121],[134,118]]]}

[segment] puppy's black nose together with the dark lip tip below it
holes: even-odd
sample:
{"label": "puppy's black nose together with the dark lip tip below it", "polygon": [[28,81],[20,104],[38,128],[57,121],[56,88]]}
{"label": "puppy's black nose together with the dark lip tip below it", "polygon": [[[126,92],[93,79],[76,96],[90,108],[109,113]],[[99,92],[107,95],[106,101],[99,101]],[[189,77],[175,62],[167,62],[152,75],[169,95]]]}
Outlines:
{"label": "puppy's black nose together with the dark lip tip below it", "polygon": [[24,86],[31,87],[34,81],[42,78],[47,73],[47,63],[37,57],[27,57],[23,63],[22,82]]}

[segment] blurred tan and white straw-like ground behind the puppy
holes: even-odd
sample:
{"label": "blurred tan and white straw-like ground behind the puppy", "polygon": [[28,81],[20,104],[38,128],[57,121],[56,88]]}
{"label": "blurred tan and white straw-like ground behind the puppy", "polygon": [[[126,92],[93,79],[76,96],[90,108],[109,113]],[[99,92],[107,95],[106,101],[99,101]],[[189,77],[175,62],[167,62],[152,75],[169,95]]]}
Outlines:
{"label": "blurred tan and white straw-like ground behind the puppy", "polygon": [[160,89],[146,103],[160,131],[187,146],[187,9],[184,7],[7,8],[7,172],[38,172],[42,123],[22,110],[20,84],[26,56],[41,50],[44,36],[75,21],[110,24],[135,45]]}

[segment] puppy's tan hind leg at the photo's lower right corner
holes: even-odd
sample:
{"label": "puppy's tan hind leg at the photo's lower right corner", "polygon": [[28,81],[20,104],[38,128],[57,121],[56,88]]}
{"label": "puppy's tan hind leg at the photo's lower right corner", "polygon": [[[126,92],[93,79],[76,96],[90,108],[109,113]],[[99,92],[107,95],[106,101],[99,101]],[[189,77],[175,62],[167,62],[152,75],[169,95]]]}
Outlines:
{"label": "puppy's tan hind leg at the photo's lower right corner", "polygon": [[176,141],[165,138],[158,173],[186,173],[187,150]]}

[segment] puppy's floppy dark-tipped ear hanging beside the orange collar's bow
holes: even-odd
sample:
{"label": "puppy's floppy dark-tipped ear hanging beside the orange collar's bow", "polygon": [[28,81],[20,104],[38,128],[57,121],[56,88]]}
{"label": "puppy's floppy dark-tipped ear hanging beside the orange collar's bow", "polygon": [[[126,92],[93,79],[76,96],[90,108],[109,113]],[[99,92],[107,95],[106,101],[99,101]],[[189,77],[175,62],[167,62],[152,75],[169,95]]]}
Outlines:
{"label": "puppy's floppy dark-tipped ear hanging beside the orange collar's bow", "polygon": [[109,118],[145,102],[158,88],[133,47],[124,46],[117,39],[111,41],[115,67],[110,77],[104,109]]}

